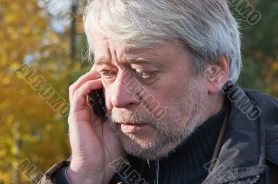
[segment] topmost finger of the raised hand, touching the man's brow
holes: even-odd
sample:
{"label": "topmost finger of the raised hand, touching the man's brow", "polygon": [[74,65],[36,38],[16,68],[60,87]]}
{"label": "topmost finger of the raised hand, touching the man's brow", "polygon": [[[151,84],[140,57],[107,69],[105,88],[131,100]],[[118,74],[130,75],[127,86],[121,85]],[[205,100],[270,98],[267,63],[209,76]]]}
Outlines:
{"label": "topmost finger of the raised hand, touching the man's brow", "polygon": [[88,73],[85,73],[85,75],[79,77],[79,79],[76,80],[76,82],[74,82],[74,84],[72,84],[69,88],[70,103],[72,102],[73,94],[74,91],[76,91],[76,89],[79,89],[79,87],[85,82],[87,82],[88,80],[96,80],[98,78],[100,78],[100,74],[97,71],[89,71]]}

